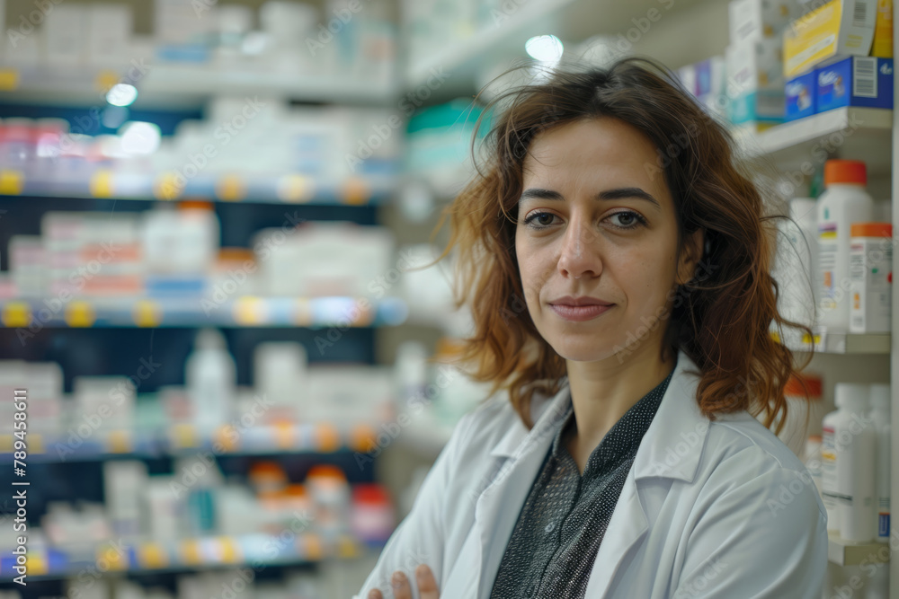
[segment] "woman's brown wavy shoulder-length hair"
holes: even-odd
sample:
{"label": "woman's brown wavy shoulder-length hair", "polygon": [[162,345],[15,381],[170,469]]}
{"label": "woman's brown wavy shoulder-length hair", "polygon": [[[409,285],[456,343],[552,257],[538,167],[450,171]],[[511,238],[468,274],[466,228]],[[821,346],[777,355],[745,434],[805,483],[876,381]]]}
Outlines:
{"label": "woman's brown wavy shoulder-length hair", "polygon": [[[665,331],[664,349],[682,349],[699,367],[699,408],[717,413],[764,412],[764,425],[787,418],[784,387],[794,373],[793,352],[770,335],[776,323],[812,331],[781,317],[778,284],[771,276],[777,229],[761,188],[735,155],[734,138],[683,89],[676,75],[645,57],[619,59],[608,68],[556,70],[536,84],[494,97],[476,122],[503,105],[478,146],[477,174],[441,215],[451,224],[454,247],[454,300],[468,304],[474,334],[462,339],[458,363],[467,374],[493,383],[491,395],[508,389],[512,405],[528,428],[533,393],[555,394],[566,374],[565,360],[543,339],[524,303],[515,256],[522,163],[540,132],[579,119],[611,117],[639,129],[658,151],[657,172],[672,193],[678,226],[678,253],[689,233],[705,230],[705,254],[694,275],[680,286]],[[472,154],[479,154],[476,141]],[[670,296],[671,299],[671,296]],[[808,399],[806,392],[806,400]],[[807,413],[806,410],[806,423]]]}

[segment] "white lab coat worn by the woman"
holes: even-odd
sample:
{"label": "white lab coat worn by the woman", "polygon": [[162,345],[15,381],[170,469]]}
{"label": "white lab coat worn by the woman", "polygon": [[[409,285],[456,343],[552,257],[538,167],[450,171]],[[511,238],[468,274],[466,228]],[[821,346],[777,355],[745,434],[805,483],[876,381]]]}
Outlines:
{"label": "white lab coat worn by the woman", "polygon": [[[699,412],[683,351],[593,562],[589,599],[818,599],[827,515],[802,462],[748,412]],[[431,567],[441,599],[487,599],[521,507],[571,403],[535,395],[534,427],[502,397],[463,417],[359,595]]]}

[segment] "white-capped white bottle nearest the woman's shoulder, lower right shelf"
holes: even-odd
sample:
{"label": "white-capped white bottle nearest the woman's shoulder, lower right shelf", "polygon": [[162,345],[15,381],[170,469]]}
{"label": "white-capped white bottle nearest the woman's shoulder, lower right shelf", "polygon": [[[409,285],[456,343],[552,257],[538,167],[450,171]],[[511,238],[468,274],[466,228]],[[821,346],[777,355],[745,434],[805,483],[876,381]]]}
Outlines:
{"label": "white-capped white bottle nearest the woman's shoulder, lower right shelf", "polygon": [[868,414],[868,385],[837,383],[840,410],[832,420],[840,536],[874,539],[874,455],[877,434]]}

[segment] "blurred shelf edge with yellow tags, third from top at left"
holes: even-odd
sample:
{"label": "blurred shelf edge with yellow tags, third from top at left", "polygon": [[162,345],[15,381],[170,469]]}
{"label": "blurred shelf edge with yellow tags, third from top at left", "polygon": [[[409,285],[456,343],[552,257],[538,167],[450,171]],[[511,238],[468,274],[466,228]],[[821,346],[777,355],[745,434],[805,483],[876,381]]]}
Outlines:
{"label": "blurred shelf edge with yellow tags, third from top at left", "polygon": [[0,323],[36,332],[85,327],[382,327],[405,322],[408,306],[397,297],[380,300],[332,297],[237,296],[217,302],[209,295],[177,299],[30,298],[0,300]]}

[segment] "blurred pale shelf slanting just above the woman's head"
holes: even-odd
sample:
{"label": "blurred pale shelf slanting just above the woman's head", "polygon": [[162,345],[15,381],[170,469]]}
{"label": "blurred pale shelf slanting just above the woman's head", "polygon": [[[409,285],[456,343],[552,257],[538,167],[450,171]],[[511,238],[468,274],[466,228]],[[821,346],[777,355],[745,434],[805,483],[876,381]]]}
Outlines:
{"label": "blurred pale shelf slanting just above the woman's head", "polygon": [[[690,11],[700,7],[714,10],[715,4],[714,0],[508,0],[497,4],[485,24],[477,30],[468,31],[464,39],[435,44],[434,47],[441,49],[430,56],[417,57],[412,53],[405,66],[405,91],[407,97],[421,98],[421,95],[416,95],[417,92],[426,89],[429,103],[471,95],[482,84],[480,75],[485,65],[497,64],[507,58],[527,58],[525,42],[532,36],[542,34],[554,34],[567,43],[586,40],[594,35],[608,35],[617,41],[619,36],[633,38],[636,32],[640,43],[631,45],[636,52],[664,54],[671,64],[688,64],[709,54],[704,54],[705,50],[699,44],[696,46],[702,56],[693,54],[697,48],[687,49],[684,53],[684,48],[690,44],[676,44],[673,49],[672,44],[655,48],[652,46],[653,36],[637,29],[637,22],[644,28],[647,25],[654,29],[661,26],[663,30],[680,22],[682,34],[690,34],[691,28],[695,28],[695,22],[689,18]],[[675,16],[675,13],[679,14]],[[654,17],[652,22],[649,15]],[[679,16],[683,18],[679,19]],[[454,32],[458,34],[458,31]],[[667,36],[663,38],[667,39]],[[625,43],[628,43],[627,40]]]}

